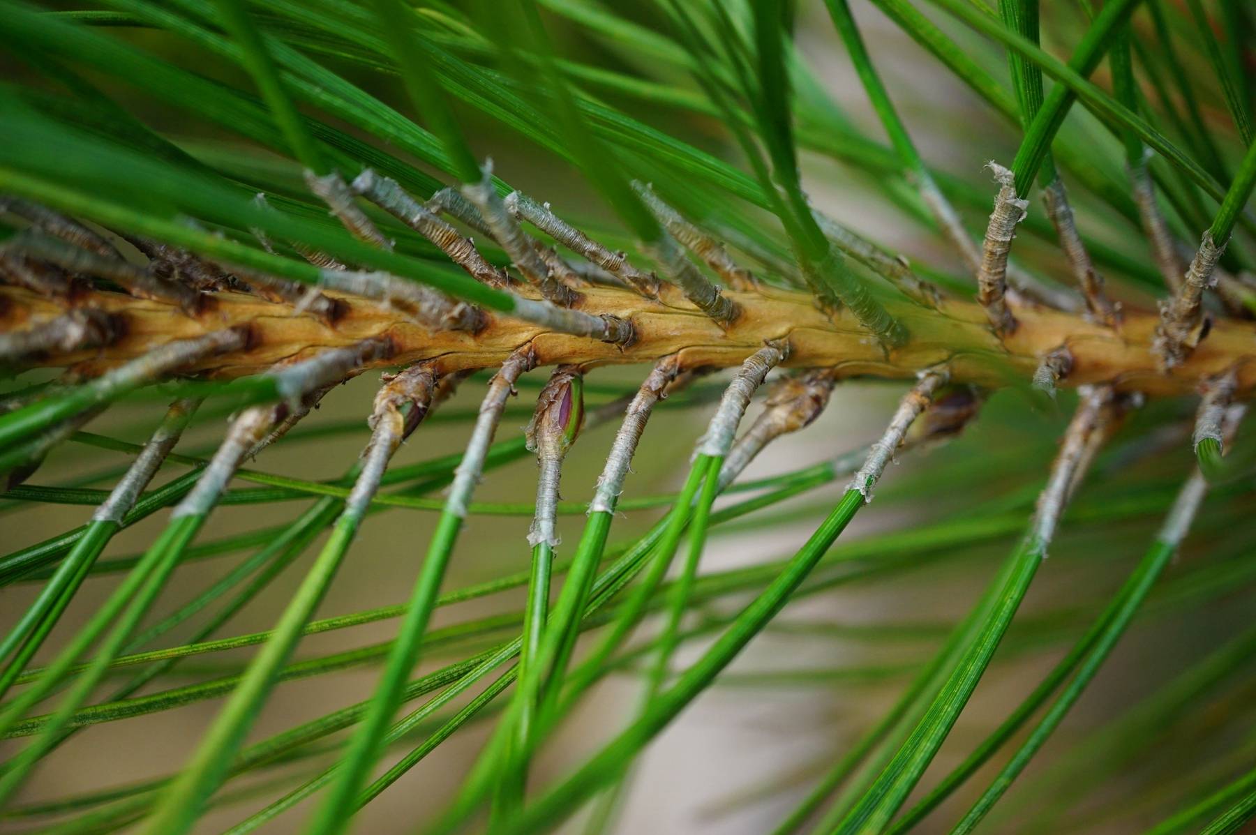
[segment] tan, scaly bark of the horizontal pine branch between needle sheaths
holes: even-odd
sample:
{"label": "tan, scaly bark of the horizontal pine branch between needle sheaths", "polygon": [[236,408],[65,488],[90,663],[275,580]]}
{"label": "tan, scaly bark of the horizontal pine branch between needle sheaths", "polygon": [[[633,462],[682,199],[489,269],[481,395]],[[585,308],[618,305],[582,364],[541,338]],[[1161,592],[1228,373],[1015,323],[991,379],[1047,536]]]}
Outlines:
{"label": "tan, scaly bark of the horizontal pine branch between needle sheaths", "polygon": [[[987,387],[1027,384],[1041,358],[1065,347],[1074,359],[1068,385],[1110,382],[1118,391],[1149,396],[1184,394],[1211,377],[1233,369],[1238,392],[1256,387],[1256,325],[1218,321],[1208,338],[1182,364],[1164,373],[1152,353],[1158,316],[1143,310],[1125,314],[1122,331],[1088,323],[1081,316],[1014,304],[1021,323],[1002,343],[990,331],[980,305],[943,301],[938,310],[903,304],[892,313],[911,338],[885,350],[849,311],[829,316],[801,293],[762,289],[728,293],[744,314],[722,328],[700,313],[676,288],[666,288],[658,301],[629,290],[588,288],[579,306],[594,314],[629,320],[637,340],[627,347],[545,331],[509,316],[490,315],[477,334],[431,333],[401,311],[371,301],[329,293],[347,311],[328,325],[309,313],[239,293],[215,294],[217,304],[200,316],[183,315],[176,305],[134,299],[118,293],[92,291],[82,305],[122,315],[127,331],[103,350],[51,357],[45,364],[74,365],[93,374],[132,359],[148,349],[230,325],[247,324],[245,350],[210,357],[196,367],[212,377],[232,378],[264,370],[284,358],[308,357],[327,348],[349,345],[371,337],[388,337],[394,352],[377,367],[436,359],[441,374],[501,364],[516,348],[531,343],[539,365],[577,363],[585,367],[653,363],[677,354],[682,370],[705,365],[740,365],[766,340],[789,342],[791,368],[833,368],[835,375],[912,378],[923,368],[948,363],[956,382]],[[64,313],[54,299],[21,288],[0,288],[0,330],[29,326]]]}

